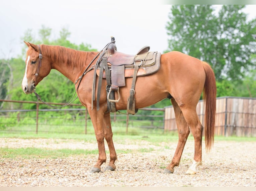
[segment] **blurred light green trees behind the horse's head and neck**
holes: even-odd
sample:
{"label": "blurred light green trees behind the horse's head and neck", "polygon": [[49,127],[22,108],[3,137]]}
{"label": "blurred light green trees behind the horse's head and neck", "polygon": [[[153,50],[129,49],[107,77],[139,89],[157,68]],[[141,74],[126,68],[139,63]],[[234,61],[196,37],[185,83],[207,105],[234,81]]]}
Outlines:
{"label": "blurred light green trees behind the horse's head and neck", "polygon": [[[63,28],[59,32],[59,37],[53,40],[51,38],[51,29],[45,26],[39,30],[39,39],[35,39],[32,35],[32,30],[28,29],[24,36],[22,37],[23,41],[29,41],[33,44],[48,44],[48,45],[59,45],[65,46],[67,48],[73,48],[81,51],[97,51],[96,49],[92,49],[91,45],[81,43],[80,45],[76,45],[71,43],[68,38],[70,36],[70,32]],[[24,43],[23,43],[24,44]],[[21,89],[21,82],[25,72],[25,51],[27,50],[27,46],[24,44],[24,48],[22,51],[22,56],[18,58],[10,59],[10,67],[13,70],[13,80],[7,81],[6,86],[9,87],[8,95],[9,99],[12,100],[27,100],[27,101],[36,101],[36,96],[25,95]],[[1,66],[0,66],[1,67]],[[11,83],[12,82],[12,83]],[[56,103],[66,103],[68,102],[75,93],[74,84],[68,80],[65,76],[59,73],[56,70],[52,70],[50,74],[42,80],[41,83],[37,85],[36,91],[44,101],[47,102],[56,102]],[[77,99],[74,103],[80,103],[79,99]],[[15,106],[14,106],[15,107]],[[23,109],[34,109],[35,105],[27,104],[22,106]],[[48,108],[46,105],[41,105],[40,108]]]}

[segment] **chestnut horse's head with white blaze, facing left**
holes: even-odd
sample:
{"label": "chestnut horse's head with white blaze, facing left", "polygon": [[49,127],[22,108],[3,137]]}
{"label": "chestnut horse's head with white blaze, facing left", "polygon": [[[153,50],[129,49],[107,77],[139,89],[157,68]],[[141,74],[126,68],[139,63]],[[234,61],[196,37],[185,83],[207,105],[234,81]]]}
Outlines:
{"label": "chestnut horse's head with white blaze, facing left", "polygon": [[35,86],[50,73],[51,66],[47,57],[44,57],[42,62],[40,45],[34,45],[25,41],[24,43],[28,46],[28,50],[22,89],[25,94],[31,94],[34,92]]}

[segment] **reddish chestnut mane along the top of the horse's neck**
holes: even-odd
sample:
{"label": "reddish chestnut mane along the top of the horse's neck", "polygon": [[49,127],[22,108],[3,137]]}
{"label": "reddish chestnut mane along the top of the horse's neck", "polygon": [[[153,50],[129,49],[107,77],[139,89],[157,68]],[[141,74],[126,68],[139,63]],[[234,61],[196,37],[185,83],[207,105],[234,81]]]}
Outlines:
{"label": "reddish chestnut mane along the top of the horse's neck", "polygon": [[53,62],[66,63],[72,68],[77,67],[78,70],[83,70],[86,60],[93,60],[97,54],[97,52],[78,51],[55,45],[41,45],[41,50],[42,54],[46,54]]}

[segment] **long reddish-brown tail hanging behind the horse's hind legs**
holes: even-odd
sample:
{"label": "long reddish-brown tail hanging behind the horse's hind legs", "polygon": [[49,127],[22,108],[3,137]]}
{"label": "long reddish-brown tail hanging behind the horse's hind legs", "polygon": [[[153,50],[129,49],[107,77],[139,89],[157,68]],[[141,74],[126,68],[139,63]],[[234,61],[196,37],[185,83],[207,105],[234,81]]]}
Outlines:
{"label": "long reddish-brown tail hanging behind the horse's hind legs", "polygon": [[203,62],[203,67],[206,75],[203,93],[205,102],[205,145],[206,151],[210,151],[214,143],[217,88],[213,69],[206,62]]}

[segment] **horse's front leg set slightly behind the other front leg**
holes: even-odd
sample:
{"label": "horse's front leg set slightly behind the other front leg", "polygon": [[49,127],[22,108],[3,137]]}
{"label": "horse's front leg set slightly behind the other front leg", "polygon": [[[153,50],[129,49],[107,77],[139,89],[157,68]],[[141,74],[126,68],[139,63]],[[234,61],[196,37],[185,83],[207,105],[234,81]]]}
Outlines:
{"label": "horse's front leg set slightly behind the other front leg", "polygon": [[105,132],[105,139],[108,143],[109,147],[109,153],[110,153],[110,161],[108,166],[106,166],[105,170],[115,170],[115,161],[117,159],[116,150],[113,143],[113,132],[111,128],[111,119],[110,119],[110,113],[104,114],[104,132]]}

